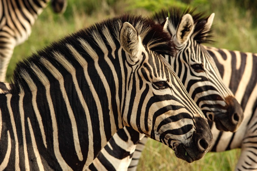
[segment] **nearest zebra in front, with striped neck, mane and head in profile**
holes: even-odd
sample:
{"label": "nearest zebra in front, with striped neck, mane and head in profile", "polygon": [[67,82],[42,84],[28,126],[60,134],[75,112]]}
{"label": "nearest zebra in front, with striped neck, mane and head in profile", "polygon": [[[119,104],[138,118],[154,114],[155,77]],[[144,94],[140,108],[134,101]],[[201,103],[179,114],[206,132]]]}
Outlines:
{"label": "nearest zebra in front, with striped neck, mane and head in profile", "polygon": [[211,130],[163,57],[174,52],[163,26],[123,15],[18,63],[0,94],[0,170],[85,170],[124,126],[202,158]]}

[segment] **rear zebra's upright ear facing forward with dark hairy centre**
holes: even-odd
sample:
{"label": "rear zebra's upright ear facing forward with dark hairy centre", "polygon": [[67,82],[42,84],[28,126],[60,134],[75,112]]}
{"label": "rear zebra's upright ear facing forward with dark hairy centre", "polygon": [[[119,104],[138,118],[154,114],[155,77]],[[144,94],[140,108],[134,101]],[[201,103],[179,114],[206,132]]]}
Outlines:
{"label": "rear zebra's upright ear facing forward with dark hairy centre", "polygon": [[185,14],[177,28],[176,38],[179,44],[185,43],[194,30],[194,20],[190,14]]}

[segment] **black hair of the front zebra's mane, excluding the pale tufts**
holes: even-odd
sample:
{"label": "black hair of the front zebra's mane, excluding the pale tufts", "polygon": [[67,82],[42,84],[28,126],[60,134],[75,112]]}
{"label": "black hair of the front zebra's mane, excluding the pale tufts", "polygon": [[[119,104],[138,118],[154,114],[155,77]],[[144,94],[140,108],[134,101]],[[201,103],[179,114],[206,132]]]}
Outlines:
{"label": "black hair of the front zebra's mane, excluding the pale tufts", "polygon": [[160,26],[160,24],[157,24],[155,21],[142,16],[122,15],[96,23],[89,28],[81,29],[74,34],[68,35],[63,39],[52,43],[50,46],[39,50],[37,53],[29,56],[26,60],[18,62],[13,74],[12,83],[14,84],[14,88],[9,91],[9,93],[20,93],[21,90],[30,91],[28,84],[23,78],[24,75],[22,73],[24,73],[24,71],[29,74],[35,84],[39,84],[38,82],[40,81],[33,73],[31,65],[37,65],[38,68],[40,68],[40,70],[42,70],[42,72],[45,73],[47,77],[50,75],[47,69],[45,69],[45,67],[40,62],[39,58],[45,58],[49,60],[52,65],[54,65],[60,72],[65,72],[63,71],[63,68],[60,66],[58,61],[53,58],[53,52],[63,54],[66,60],[68,60],[76,68],[76,65],[78,65],[77,61],[70,57],[70,51],[66,46],[67,43],[71,44],[79,53],[81,53],[81,55],[83,54],[82,56],[84,56],[85,59],[92,60],[90,57],[90,59],[87,58],[89,54],[81,47],[81,43],[78,41],[78,39],[85,40],[97,54],[102,54],[102,50],[97,44],[96,40],[93,39],[92,33],[97,33],[97,35],[106,44],[106,47],[110,49],[110,45],[108,44],[103,33],[103,30],[107,28],[110,32],[113,42],[115,43],[116,47],[119,48],[119,31],[124,22],[129,22],[137,29],[143,44],[146,45],[150,50],[155,51],[158,54],[174,54],[174,44],[171,41],[170,34],[163,31],[163,28]]}

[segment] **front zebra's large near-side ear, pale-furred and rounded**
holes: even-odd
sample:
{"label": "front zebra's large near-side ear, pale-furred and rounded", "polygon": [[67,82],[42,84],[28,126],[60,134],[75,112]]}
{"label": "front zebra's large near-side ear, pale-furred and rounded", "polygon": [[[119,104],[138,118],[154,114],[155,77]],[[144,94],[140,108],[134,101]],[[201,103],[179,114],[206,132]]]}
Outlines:
{"label": "front zebra's large near-side ear, pale-furred and rounded", "polygon": [[137,62],[144,46],[136,29],[128,22],[123,23],[120,29],[120,43],[123,49],[130,54],[130,60]]}

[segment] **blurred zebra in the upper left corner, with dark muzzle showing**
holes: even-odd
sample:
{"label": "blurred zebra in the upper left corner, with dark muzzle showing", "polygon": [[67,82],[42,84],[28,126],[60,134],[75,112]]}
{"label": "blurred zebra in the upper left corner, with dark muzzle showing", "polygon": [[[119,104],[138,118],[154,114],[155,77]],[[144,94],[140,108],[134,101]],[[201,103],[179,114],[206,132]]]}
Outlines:
{"label": "blurred zebra in the upper left corner, with dark muzzle showing", "polygon": [[[15,46],[31,34],[31,27],[50,0],[1,0],[0,3],[0,81],[4,82]],[[67,0],[51,0],[55,12],[63,12]]]}

